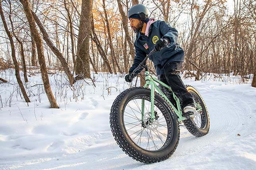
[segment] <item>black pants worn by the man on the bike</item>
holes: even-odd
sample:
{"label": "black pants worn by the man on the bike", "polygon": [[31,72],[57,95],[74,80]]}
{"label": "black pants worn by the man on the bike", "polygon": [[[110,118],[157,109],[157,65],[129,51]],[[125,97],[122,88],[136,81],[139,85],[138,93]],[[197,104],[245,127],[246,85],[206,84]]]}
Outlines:
{"label": "black pants worn by the man on the bike", "polygon": [[[163,83],[169,85],[175,95],[181,99],[182,108],[187,106],[187,104],[193,103],[193,97],[187,91],[186,86],[184,85],[179,73],[181,72],[183,62],[169,62],[164,66],[164,74],[159,75],[158,79]],[[175,104],[171,91],[166,89],[164,86],[159,84],[159,88],[163,91],[164,94],[169,98],[169,100]]]}

